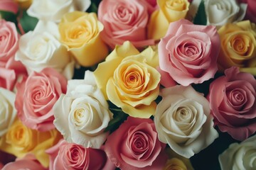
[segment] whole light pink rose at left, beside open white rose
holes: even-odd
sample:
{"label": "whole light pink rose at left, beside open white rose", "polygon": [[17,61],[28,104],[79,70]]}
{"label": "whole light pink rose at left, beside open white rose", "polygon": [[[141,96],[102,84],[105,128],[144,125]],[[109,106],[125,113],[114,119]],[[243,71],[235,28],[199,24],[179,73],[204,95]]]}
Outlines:
{"label": "whole light pink rose at left, beside open white rose", "polygon": [[28,128],[47,131],[53,125],[53,105],[65,94],[67,80],[52,68],[32,72],[17,84],[15,107],[18,118]]}

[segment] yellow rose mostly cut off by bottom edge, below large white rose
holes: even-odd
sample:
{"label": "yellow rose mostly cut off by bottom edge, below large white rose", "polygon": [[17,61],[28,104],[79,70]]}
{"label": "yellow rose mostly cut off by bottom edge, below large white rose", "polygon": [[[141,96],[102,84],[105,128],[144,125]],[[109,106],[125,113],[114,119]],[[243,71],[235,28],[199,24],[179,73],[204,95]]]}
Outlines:
{"label": "yellow rose mostly cut off by bottom edge, below large white rose", "polygon": [[193,170],[190,160],[186,157],[182,157],[169,147],[166,149],[166,153],[168,154],[169,159],[163,170]]}

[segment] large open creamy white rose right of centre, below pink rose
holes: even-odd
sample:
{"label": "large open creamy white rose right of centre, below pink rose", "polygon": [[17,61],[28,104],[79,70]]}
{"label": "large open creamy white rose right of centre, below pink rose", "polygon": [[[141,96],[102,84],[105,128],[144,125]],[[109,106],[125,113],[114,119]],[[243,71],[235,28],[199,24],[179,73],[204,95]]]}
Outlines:
{"label": "large open creamy white rose right of centre, below pink rose", "polygon": [[183,157],[208,147],[217,137],[207,99],[191,86],[162,89],[154,123],[159,140]]}

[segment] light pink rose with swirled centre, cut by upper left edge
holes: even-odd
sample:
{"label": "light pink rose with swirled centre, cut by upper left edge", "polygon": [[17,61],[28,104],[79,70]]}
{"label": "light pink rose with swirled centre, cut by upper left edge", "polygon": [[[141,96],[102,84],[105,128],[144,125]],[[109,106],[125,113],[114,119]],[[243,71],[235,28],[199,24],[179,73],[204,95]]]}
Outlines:
{"label": "light pink rose with swirled centre, cut by upper left edge", "polygon": [[7,62],[18,50],[19,35],[14,23],[0,19],[0,62]]}

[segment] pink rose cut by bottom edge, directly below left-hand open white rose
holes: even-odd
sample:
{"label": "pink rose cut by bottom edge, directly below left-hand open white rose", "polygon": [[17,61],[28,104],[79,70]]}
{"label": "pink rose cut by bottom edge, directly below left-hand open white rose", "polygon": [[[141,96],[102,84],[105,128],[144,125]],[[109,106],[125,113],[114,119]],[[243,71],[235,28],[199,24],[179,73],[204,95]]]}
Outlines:
{"label": "pink rose cut by bottom edge, directly below left-hand open white rose", "polygon": [[112,164],[102,149],[85,148],[82,145],[60,140],[57,145],[46,150],[50,156],[50,170],[93,169],[111,170]]}

